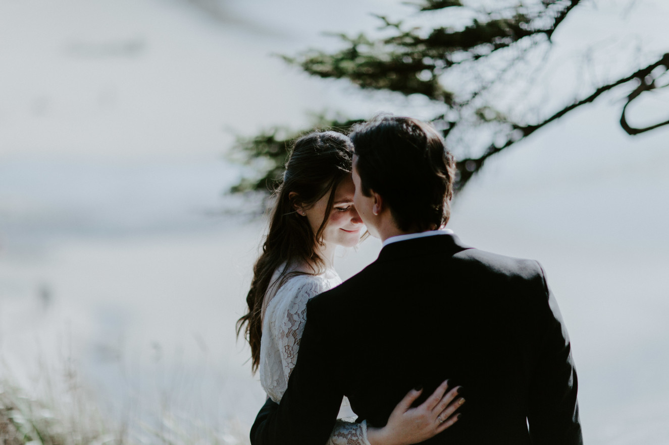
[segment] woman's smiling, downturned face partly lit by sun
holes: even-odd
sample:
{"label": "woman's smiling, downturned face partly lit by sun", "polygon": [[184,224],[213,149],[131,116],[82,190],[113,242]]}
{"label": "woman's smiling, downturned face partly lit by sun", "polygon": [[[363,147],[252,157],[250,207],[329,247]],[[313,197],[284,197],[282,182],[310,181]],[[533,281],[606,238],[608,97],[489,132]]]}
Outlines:
{"label": "woman's smiling, downturned face partly lit by sun", "polygon": [[318,231],[323,218],[330,214],[323,231],[322,241],[325,243],[353,247],[360,241],[363,220],[353,206],[353,194],[355,194],[355,186],[349,174],[337,186],[332,208],[326,208],[330,198],[328,192],[311,208],[304,209],[314,233]]}

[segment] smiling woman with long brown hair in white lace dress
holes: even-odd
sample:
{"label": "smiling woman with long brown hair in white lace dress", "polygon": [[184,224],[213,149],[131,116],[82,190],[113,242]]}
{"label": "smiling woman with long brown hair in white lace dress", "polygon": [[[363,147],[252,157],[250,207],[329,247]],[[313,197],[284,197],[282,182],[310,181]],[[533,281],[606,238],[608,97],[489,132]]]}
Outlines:
{"label": "smiling woman with long brown hair in white lace dress", "polygon": [[[295,142],[278,189],[270,229],[254,266],[246,297],[249,312],[237,322],[251,345],[252,369],[274,402],[280,402],[295,365],[306,321],[306,303],[341,283],[334,250],[353,247],[363,221],[353,206],[353,145],[337,132],[314,132]],[[408,445],[442,432],[464,403],[444,382],[421,406],[421,391],[397,405],[383,428],[337,420],[329,444]]]}

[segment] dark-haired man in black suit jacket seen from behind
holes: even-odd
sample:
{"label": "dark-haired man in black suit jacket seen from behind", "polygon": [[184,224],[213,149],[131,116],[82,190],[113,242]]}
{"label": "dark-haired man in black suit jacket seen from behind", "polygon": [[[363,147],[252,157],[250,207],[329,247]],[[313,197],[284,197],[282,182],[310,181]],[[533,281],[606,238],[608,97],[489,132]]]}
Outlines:
{"label": "dark-haired man in black suit jacket seen from behind", "polygon": [[254,445],[322,445],[343,396],[383,426],[410,388],[466,388],[431,444],[582,444],[569,337],[539,263],[472,249],[446,229],[454,162],[432,127],[354,128],[355,207],[379,258],[307,305],[298,360]]}

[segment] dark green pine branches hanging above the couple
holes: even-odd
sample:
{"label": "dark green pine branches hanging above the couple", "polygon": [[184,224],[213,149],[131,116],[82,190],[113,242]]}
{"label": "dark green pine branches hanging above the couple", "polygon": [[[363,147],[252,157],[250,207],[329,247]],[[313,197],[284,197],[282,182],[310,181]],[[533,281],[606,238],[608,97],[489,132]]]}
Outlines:
{"label": "dark green pine branches hanging above the couple", "polygon": [[[424,29],[379,16],[382,38],[341,34],[338,37],[344,47],[340,51],[311,49],[284,59],[312,76],[349,80],[364,90],[429,98],[441,109],[432,124],[444,134],[448,146],[457,148],[456,190],[480,172],[494,154],[617,86],[630,86],[620,118],[628,134],[669,124],[634,128],[626,119],[632,101],[668,83],[669,53],[627,76],[563,101],[557,108],[544,106],[546,101],[528,104],[523,88],[533,82],[531,61],[541,63],[541,57],[551,51],[553,33],[581,0],[527,0],[520,4],[504,0],[498,1],[494,10],[470,3],[473,1],[422,0],[415,4],[419,15],[444,11],[448,12],[442,15],[445,20],[451,17],[460,23],[465,19],[465,26],[444,23]],[[355,122],[361,120],[318,116],[313,128],[346,132]],[[269,190],[282,174],[290,141],[313,128],[298,132],[271,128],[252,138],[238,139],[234,152],[254,165],[258,176],[245,178],[232,191]]]}

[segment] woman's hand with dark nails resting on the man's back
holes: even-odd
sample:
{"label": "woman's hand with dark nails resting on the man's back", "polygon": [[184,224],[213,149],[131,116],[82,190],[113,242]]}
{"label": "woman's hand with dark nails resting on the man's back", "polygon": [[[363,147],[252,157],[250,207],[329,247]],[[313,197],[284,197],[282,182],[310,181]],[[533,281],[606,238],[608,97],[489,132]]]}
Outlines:
{"label": "woman's hand with dark nails resting on the man's back", "polygon": [[383,428],[367,427],[367,440],[371,445],[411,445],[423,442],[456,423],[462,414],[454,415],[464,404],[464,398],[457,397],[461,386],[448,390],[448,380],[437,388],[421,405],[411,408],[411,404],[423,390],[411,390],[395,406]]}

